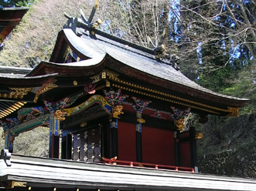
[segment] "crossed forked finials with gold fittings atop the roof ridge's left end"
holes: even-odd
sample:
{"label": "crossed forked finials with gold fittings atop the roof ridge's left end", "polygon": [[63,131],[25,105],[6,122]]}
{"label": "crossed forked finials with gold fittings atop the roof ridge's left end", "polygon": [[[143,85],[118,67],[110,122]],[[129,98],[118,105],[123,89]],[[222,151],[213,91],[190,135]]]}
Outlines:
{"label": "crossed forked finials with gold fittings atop the roof ridge's left end", "polygon": [[64,25],[63,28],[71,28],[73,32],[76,33],[76,35],[81,36],[84,32],[84,30],[81,30],[81,28],[87,30],[87,28],[97,28],[98,25],[101,25],[101,18],[98,18],[97,21],[92,22],[96,9],[98,5],[98,0],[96,0],[94,7],[92,8],[90,12],[90,16],[88,19],[86,19],[84,12],[80,9],[81,18],[73,18],[70,15],[67,15],[66,12],[64,12],[64,16],[68,18],[67,25]]}

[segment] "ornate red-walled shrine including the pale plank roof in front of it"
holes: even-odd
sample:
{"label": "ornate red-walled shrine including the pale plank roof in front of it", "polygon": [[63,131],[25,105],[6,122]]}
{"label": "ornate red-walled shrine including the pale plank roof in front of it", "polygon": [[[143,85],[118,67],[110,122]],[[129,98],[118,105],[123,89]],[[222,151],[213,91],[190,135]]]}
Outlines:
{"label": "ornate red-walled shrine including the pale plank roof in front of it", "polygon": [[[5,149],[0,190],[256,190],[253,179],[198,173],[190,112],[238,116],[248,99],[186,78],[158,49],[68,18],[49,62],[0,67]],[[13,152],[15,137],[49,128],[49,158]],[[31,142],[32,144],[32,142]]]}

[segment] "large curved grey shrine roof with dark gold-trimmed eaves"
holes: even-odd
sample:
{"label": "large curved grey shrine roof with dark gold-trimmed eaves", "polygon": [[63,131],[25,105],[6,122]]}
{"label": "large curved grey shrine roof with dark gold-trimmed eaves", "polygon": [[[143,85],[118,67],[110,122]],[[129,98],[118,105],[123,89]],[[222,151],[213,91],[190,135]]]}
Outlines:
{"label": "large curved grey shrine roof with dark gold-trimmed eaves", "polygon": [[[26,96],[28,99],[23,101],[32,102],[34,93],[35,102],[44,93],[43,89],[52,84],[53,78],[57,89],[74,88],[73,82],[78,82],[76,91],[73,91],[77,92],[79,87],[83,89],[84,85],[96,83],[95,76],[107,70],[114,72],[114,77],[107,74],[114,87],[167,100],[176,106],[191,107],[192,112],[237,116],[238,108],[249,100],[205,89],[176,70],[170,60],[157,58],[152,49],[125,41],[71,17],[58,35],[49,62],[39,63],[35,69],[27,70],[26,75],[2,75],[0,78],[9,88],[15,88],[15,85],[16,88],[32,87],[30,97]],[[58,93],[55,89],[52,94],[62,95],[63,91]],[[5,100],[7,98],[8,95],[5,95]],[[13,100],[12,97],[10,99]]]}

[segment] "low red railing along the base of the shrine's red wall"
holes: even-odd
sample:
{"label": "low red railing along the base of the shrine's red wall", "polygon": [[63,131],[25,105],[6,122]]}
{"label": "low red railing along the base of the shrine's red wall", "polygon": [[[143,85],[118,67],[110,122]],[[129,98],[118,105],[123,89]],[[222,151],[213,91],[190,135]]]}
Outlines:
{"label": "low red railing along the base of the shrine's red wall", "polygon": [[179,172],[187,172],[187,173],[194,173],[193,168],[183,167],[183,166],[168,166],[168,165],[159,165],[159,164],[152,164],[152,163],[138,163],[138,162],[131,162],[125,160],[117,160],[117,157],[112,159],[107,159],[102,157],[102,161],[99,163],[107,163],[111,165],[121,165],[121,166],[138,166],[142,168],[150,168],[150,169],[167,169]]}

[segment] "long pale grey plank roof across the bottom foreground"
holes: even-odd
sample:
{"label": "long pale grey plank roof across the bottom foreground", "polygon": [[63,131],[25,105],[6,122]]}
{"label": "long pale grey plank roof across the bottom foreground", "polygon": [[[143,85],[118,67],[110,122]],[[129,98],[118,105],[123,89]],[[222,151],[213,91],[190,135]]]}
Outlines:
{"label": "long pale grey plank roof across the bottom foreground", "polygon": [[[12,154],[11,166],[0,159],[0,180],[26,187],[128,190],[256,190],[255,179],[181,173],[163,169],[111,166]],[[18,187],[19,189],[19,187]]]}

